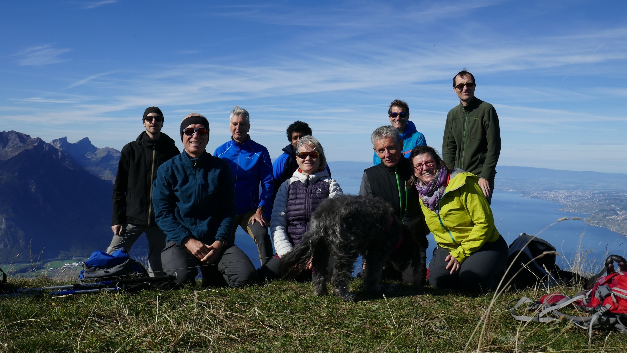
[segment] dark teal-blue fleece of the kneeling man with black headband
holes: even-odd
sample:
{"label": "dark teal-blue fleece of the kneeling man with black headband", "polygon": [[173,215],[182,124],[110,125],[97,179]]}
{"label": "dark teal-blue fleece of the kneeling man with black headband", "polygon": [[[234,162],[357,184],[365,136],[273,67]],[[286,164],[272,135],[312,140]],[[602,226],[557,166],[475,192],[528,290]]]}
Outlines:
{"label": "dark teal-blue fleece of the kneeling man with black headband", "polygon": [[235,221],[233,176],[226,162],[185,151],[161,164],[152,183],[155,221],[166,240],[193,236],[205,244],[230,240]]}

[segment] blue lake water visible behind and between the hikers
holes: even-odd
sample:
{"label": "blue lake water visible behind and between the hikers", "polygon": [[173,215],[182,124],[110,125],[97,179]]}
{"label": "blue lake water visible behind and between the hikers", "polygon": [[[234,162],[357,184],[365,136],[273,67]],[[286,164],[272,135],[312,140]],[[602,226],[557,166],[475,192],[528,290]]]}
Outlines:
{"label": "blue lake water visible behind and between the hikers", "polygon": [[[350,194],[359,192],[361,177],[339,175],[334,178],[345,192]],[[563,217],[586,218],[588,216],[559,211],[561,207],[562,205],[558,203],[526,198],[515,192],[496,191],[492,198],[494,219],[505,241],[508,244],[512,243],[520,233],[538,234],[540,238],[555,246],[557,252],[562,255],[562,258],[557,260],[561,268],[569,268],[568,263],[574,261],[574,254],[577,252],[586,252],[588,261],[603,261],[607,253],[627,256],[627,237],[622,234],[606,228],[588,226],[584,221],[579,220],[561,221],[551,225]],[[432,234],[429,234],[428,239],[429,261],[435,248],[435,240]],[[235,244],[251,259],[259,258],[255,242],[241,228],[236,233]],[[260,261],[253,260],[253,264],[259,267]]]}

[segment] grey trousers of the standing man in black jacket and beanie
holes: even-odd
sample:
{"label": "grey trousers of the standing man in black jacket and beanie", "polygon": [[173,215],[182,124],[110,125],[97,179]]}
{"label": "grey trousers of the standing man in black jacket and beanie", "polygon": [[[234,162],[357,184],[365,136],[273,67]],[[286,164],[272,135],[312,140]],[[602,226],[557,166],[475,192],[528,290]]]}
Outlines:
{"label": "grey trousers of the standing man in black jacket and beanie", "polygon": [[137,238],[146,233],[148,240],[148,273],[150,277],[163,275],[161,266],[161,251],[166,247],[166,233],[157,226],[142,226],[140,224],[122,224],[122,234],[113,235],[111,244],[107,248],[107,254],[118,249],[124,249],[130,253]]}

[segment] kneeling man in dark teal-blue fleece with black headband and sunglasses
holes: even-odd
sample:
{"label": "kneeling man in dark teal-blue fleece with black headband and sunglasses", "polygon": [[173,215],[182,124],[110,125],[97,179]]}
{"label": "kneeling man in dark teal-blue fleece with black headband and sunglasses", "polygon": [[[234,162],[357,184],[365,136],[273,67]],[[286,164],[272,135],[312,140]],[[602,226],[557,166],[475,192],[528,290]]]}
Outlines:
{"label": "kneeling man in dark teal-blue fleece with black headband and sunglasses", "polygon": [[240,288],[257,280],[255,266],[231,241],[235,191],[228,164],[206,152],[209,122],[191,113],[181,122],[185,150],[162,164],[152,187],[155,220],[166,233],[163,270],[175,285]]}

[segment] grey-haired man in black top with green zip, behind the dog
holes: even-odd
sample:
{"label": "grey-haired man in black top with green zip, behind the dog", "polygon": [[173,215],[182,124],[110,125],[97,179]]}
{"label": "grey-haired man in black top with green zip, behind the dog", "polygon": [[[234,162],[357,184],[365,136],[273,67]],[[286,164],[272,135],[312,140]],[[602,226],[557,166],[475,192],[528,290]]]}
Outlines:
{"label": "grey-haired man in black top with green zip, behind the dog", "polygon": [[403,140],[398,130],[390,125],[374,130],[371,140],[381,163],[364,171],[359,194],[381,198],[391,204],[394,214],[410,233],[403,234],[403,243],[390,255],[382,279],[402,279],[424,285],[429,228],[424,223],[418,192],[407,187],[412,172],[409,159],[403,157]]}

